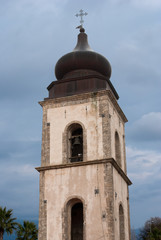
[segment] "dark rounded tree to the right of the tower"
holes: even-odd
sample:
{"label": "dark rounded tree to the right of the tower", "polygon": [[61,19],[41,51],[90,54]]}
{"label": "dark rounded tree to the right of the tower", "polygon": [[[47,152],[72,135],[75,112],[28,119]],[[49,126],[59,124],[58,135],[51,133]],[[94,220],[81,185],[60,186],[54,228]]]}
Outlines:
{"label": "dark rounded tree to the right of the tower", "polygon": [[140,230],[139,240],[161,240],[161,218],[150,218]]}

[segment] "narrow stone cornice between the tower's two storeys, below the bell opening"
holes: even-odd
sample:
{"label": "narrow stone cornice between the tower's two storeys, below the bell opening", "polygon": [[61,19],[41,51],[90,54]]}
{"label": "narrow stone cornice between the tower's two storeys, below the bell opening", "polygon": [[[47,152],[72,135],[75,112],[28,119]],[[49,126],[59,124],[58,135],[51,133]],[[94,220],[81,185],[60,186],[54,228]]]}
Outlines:
{"label": "narrow stone cornice between the tower's two storeys, below the bell opening", "polygon": [[46,171],[46,170],[73,168],[73,167],[95,165],[95,164],[104,164],[104,163],[111,163],[113,165],[113,167],[118,171],[118,173],[122,176],[122,178],[125,180],[125,182],[128,185],[132,184],[130,179],[127,177],[127,175],[119,167],[119,165],[116,163],[116,161],[113,158],[92,160],[92,161],[86,161],[86,162],[75,162],[75,163],[66,163],[66,164],[58,164],[58,165],[49,165],[49,166],[37,167],[36,170],[38,172],[41,172],[41,171]]}

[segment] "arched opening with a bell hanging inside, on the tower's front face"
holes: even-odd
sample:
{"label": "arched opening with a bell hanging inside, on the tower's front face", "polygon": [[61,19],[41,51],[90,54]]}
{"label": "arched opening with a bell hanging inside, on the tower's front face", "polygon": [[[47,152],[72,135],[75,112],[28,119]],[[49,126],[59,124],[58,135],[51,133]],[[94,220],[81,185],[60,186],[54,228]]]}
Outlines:
{"label": "arched opening with a bell hanging inside, on the tower's front face", "polygon": [[83,129],[78,123],[69,127],[68,152],[70,162],[83,161]]}

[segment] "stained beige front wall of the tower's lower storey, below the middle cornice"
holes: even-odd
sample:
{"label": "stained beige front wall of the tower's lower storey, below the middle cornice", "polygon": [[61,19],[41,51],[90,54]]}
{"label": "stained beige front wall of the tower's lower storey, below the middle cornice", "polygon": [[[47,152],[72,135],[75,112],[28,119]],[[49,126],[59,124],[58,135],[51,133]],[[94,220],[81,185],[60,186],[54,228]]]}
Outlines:
{"label": "stained beige front wall of the tower's lower storey, below the middle cornice", "polygon": [[[86,209],[84,240],[111,240],[113,233],[112,175],[104,164],[55,169],[46,172],[45,196],[48,203],[47,239],[68,239],[65,214],[66,204],[72,198],[82,199]],[[108,179],[110,182],[108,182]],[[106,180],[106,185],[104,185]],[[95,190],[98,189],[98,193]],[[106,196],[105,196],[106,194]]]}

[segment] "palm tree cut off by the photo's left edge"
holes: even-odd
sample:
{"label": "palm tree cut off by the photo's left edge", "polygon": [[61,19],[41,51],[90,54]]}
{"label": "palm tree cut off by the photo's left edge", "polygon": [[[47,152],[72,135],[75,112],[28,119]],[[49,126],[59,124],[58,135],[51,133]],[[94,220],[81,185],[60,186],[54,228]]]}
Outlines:
{"label": "palm tree cut off by the photo's left edge", "polygon": [[3,235],[6,232],[8,235],[16,229],[16,218],[12,218],[12,209],[6,210],[6,207],[0,207],[0,240],[3,240]]}

